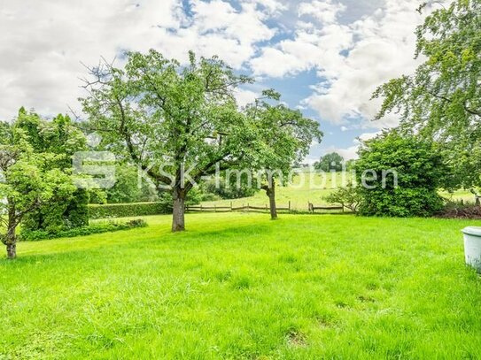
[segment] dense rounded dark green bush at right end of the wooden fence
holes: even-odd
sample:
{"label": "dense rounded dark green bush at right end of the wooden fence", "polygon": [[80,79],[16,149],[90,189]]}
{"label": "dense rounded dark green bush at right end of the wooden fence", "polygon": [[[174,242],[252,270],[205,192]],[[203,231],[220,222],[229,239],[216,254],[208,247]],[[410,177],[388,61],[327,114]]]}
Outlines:
{"label": "dense rounded dark green bush at right end of the wooden fence", "polygon": [[431,142],[384,132],[365,142],[355,170],[362,215],[428,217],[443,207],[438,188],[447,170]]}

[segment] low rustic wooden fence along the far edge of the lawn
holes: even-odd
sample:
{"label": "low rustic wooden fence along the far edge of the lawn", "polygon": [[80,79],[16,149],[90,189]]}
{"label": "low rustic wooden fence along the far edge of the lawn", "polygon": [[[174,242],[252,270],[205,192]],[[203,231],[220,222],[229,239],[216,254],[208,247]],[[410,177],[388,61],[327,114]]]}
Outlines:
{"label": "low rustic wooden fence along the far edge of the lawn", "polygon": [[[269,212],[269,206],[252,206],[249,203],[247,205],[242,206],[234,206],[230,203],[230,206],[206,206],[206,205],[195,205],[195,206],[187,206],[185,209],[187,212],[234,212],[234,211],[243,211],[243,212]],[[288,211],[291,212],[291,202],[287,205],[287,207],[277,207],[275,208],[276,211]],[[320,213],[344,213],[343,206],[315,206],[313,203],[307,203],[307,211],[311,213],[315,213],[315,211],[323,211]],[[327,211],[327,212],[326,212]],[[337,211],[337,212],[330,212],[330,211]],[[297,210],[299,212],[299,210]],[[302,211],[300,211],[302,212]],[[319,213],[319,212],[318,212]]]}

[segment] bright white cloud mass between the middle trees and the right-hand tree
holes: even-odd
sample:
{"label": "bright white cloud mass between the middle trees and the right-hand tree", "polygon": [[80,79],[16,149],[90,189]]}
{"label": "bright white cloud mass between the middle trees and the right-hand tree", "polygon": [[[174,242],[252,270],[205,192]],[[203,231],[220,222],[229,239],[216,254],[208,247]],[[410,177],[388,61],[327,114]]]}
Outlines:
{"label": "bright white cloud mass between the middle trees and the right-hand tree", "polygon": [[[330,0],[299,4],[299,21],[291,39],[263,50],[252,60],[258,75],[283,77],[316,69],[320,81],[305,104],[331,123],[384,127],[397,123],[395,116],[368,123],[379,101],[370,101],[385,80],[411,73],[418,64],[415,51],[416,24],[422,20],[417,0],[385,0],[369,15],[343,23],[346,7]],[[357,124],[356,126],[359,126]]]}

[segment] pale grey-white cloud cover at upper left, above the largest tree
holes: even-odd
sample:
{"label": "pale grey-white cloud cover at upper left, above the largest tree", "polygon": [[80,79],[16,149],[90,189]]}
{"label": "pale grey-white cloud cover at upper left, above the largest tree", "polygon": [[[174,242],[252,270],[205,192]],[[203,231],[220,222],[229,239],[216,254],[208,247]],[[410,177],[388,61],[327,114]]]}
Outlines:
{"label": "pale grey-white cloud cover at upper left, above the largest tree", "polygon": [[[0,1],[0,119],[21,105],[46,115],[76,106],[81,65],[113,59],[124,50],[162,51],[187,59],[187,51],[220,55],[240,68],[271,39],[267,19],[285,5],[275,0],[53,0]],[[121,62],[121,60],[118,60]]]}

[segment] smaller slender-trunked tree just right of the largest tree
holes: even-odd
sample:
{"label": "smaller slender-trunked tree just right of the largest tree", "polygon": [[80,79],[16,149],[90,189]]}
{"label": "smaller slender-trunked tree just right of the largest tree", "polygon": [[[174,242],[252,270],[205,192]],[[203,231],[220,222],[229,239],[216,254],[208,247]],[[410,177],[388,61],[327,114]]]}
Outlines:
{"label": "smaller slender-trunked tree just right of the largest tree", "polygon": [[[314,140],[321,142],[319,123],[307,119],[299,110],[278,102],[280,94],[266,90],[264,97],[247,106],[246,116],[253,120],[257,142],[251,166],[263,172],[260,188],[269,198],[270,215],[277,218],[275,185],[289,180],[288,174],[309,153]],[[263,181],[262,181],[263,180]]]}

